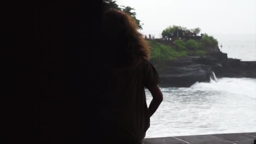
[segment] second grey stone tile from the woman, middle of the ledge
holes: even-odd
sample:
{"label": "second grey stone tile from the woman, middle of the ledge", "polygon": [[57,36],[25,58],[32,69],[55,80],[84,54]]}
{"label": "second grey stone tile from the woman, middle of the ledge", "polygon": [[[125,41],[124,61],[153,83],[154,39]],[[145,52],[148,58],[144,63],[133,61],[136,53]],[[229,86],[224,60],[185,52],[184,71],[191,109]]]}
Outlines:
{"label": "second grey stone tile from the woman, middle of the ledge", "polygon": [[211,135],[198,135],[198,136],[175,136],[178,139],[187,141],[189,144],[232,144],[223,139]]}

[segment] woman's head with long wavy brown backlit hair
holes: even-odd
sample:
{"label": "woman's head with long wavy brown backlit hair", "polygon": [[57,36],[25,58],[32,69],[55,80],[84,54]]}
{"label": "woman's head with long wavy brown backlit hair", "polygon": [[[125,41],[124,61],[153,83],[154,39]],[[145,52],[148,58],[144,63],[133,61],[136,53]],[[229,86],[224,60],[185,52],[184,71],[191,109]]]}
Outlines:
{"label": "woman's head with long wavy brown backlit hair", "polygon": [[149,59],[149,45],[131,16],[123,11],[109,10],[102,20],[104,45],[115,53],[116,58],[123,57],[128,61]]}

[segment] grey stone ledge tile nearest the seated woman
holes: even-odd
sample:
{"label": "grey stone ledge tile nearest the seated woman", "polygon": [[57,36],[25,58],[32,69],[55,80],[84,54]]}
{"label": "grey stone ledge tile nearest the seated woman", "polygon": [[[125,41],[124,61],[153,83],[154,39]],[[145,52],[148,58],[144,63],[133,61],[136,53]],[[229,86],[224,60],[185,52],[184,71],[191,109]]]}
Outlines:
{"label": "grey stone ledge tile nearest the seated woman", "polygon": [[187,144],[173,137],[148,138],[142,141],[144,144]]}

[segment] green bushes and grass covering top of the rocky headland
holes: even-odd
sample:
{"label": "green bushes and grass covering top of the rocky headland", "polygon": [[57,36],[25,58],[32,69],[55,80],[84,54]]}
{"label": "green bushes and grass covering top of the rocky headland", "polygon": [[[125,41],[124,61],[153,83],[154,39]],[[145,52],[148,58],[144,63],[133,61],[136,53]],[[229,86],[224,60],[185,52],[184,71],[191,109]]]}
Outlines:
{"label": "green bushes and grass covering top of the rocky headland", "polygon": [[[199,27],[195,29],[187,29],[186,27],[176,25],[167,27],[163,30],[162,36],[171,36],[171,38],[174,38],[172,46],[166,46],[155,41],[148,41],[149,45],[153,48],[150,52],[151,58],[157,59],[158,63],[164,63],[164,61],[172,60],[180,56],[206,56],[209,48],[218,47],[218,41],[207,34],[202,34],[201,38],[197,36],[197,39],[193,40],[193,37],[200,31],[201,29]],[[171,33],[180,38],[177,39],[178,37],[173,37],[173,35],[170,35]],[[184,39],[182,38],[183,36],[185,36]]]}

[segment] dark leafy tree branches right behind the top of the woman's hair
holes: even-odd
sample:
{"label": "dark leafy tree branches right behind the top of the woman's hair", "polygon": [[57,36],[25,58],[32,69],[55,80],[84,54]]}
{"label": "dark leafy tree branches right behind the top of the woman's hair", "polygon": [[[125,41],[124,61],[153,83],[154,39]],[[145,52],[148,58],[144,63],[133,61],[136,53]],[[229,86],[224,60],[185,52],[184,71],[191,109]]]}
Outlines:
{"label": "dark leafy tree branches right behind the top of the woman's hair", "polygon": [[132,12],[135,10],[134,8],[131,8],[130,6],[121,6],[122,8],[120,8],[119,5],[117,5],[115,0],[103,0],[103,3],[104,3],[104,11],[107,11],[110,9],[124,11],[134,19],[134,21],[138,26],[138,29],[142,29],[143,24],[141,24],[141,21],[136,18],[136,12]]}

